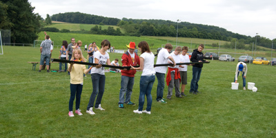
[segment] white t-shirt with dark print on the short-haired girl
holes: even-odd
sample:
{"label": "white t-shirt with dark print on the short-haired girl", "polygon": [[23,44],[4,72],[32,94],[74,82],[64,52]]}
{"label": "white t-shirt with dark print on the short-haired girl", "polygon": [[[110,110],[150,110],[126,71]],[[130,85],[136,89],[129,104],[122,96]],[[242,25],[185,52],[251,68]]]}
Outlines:
{"label": "white t-shirt with dark print on the short-haired girl", "polygon": [[[99,64],[102,64],[102,65],[106,65],[106,62],[109,59],[108,52],[106,52],[105,55],[101,55],[101,52],[97,51],[94,53],[93,56],[94,56],[93,63],[95,63],[95,59],[99,59]],[[100,75],[104,75],[104,67],[101,67],[101,68],[93,67],[90,71],[90,74],[92,74],[92,73],[98,73]]]}

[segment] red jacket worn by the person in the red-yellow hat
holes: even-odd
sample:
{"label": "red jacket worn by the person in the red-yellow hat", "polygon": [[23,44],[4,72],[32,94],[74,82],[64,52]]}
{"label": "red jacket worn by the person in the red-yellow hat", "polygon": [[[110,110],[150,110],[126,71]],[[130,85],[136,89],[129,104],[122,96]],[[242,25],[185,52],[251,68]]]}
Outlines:
{"label": "red jacket worn by the person in the red-yellow hat", "polygon": [[[139,56],[134,52],[135,54],[135,59],[134,63],[132,62],[132,59],[130,57],[130,54],[128,51],[126,51],[122,56],[121,56],[121,63],[123,64],[122,66],[140,66],[140,59]],[[122,76],[127,76],[127,77],[134,77],[136,73],[136,70],[121,70],[121,75]]]}

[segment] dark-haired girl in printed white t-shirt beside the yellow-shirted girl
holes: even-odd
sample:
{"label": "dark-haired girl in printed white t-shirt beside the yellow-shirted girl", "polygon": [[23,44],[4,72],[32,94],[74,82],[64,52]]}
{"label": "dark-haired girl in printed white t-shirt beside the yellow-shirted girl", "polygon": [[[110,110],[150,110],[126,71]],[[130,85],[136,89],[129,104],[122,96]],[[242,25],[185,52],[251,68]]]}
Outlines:
{"label": "dark-haired girl in printed white t-shirt beside the yellow-shirted girl", "polygon": [[103,97],[104,85],[106,83],[106,76],[104,75],[104,67],[101,65],[110,65],[110,59],[108,52],[110,48],[110,42],[108,40],[101,41],[101,50],[94,53],[93,63],[99,63],[95,68],[92,68],[90,74],[92,79],[93,91],[89,99],[86,112],[90,115],[95,115],[92,108],[94,106],[95,99],[97,97],[95,108],[99,110],[104,110],[101,108],[101,98]]}

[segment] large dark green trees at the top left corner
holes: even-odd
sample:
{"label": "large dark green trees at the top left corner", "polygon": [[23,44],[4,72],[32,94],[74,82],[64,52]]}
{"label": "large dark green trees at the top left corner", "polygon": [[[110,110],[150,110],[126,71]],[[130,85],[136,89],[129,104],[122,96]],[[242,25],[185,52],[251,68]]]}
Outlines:
{"label": "large dark green trees at the top left corner", "polygon": [[28,0],[1,0],[0,6],[0,27],[11,30],[13,43],[32,43],[37,39],[41,17],[33,13]]}

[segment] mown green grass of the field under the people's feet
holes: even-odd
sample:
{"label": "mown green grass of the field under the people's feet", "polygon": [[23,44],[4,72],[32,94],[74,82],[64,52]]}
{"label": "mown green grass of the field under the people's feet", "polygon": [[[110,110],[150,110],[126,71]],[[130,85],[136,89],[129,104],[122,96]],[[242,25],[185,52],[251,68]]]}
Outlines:
{"label": "mown green grass of the field under the people's feet", "polygon": [[[113,39],[110,42],[115,43]],[[107,72],[101,103],[106,110],[88,115],[86,106],[92,92],[88,75],[81,95],[83,116],[68,117],[67,73],[32,70],[27,62],[39,61],[39,48],[3,46],[3,53],[0,137],[276,137],[276,66],[248,64],[246,82],[255,82],[258,88],[252,92],[242,90],[241,77],[239,90],[230,89],[237,61],[211,61],[201,72],[199,95],[188,93],[192,79],[192,67],[188,66],[188,97],[172,97],[166,104],[153,100],[151,115],[132,112],[138,108],[141,72],[135,75],[132,92],[136,106],[118,108],[121,75]],[[59,50],[54,49],[52,58],[58,55]],[[121,54],[110,53],[110,59],[115,58],[120,59]],[[58,70],[59,65],[52,63],[51,69]],[[157,79],[152,99],[156,88]],[[164,97],[167,90],[166,86]]]}

